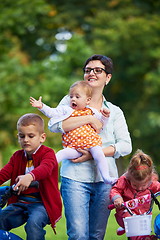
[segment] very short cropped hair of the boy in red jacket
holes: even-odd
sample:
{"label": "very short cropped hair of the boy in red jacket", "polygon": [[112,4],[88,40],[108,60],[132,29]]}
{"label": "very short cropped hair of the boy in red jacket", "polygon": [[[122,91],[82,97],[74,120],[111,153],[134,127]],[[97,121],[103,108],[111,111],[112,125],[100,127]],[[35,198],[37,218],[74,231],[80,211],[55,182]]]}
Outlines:
{"label": "very short cropped hair of the boy in red jacket", "polygon": [[17,122],[17,129],[21,126],[29,125],[36,126],[40,133],[44,132],[44,121],[38,114],[27,113],[22,115]]}

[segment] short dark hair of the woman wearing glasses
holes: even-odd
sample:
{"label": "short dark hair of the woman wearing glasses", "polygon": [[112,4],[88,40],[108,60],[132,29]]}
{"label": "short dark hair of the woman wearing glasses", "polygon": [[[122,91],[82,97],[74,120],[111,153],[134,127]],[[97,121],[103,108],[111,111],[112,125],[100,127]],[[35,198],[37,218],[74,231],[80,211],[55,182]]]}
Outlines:
{"label": "short dark hair of the woman wearing glasses", "polygon": [[112,72],[113,72],[113,61],[112,61],[112,59],[109,58],[109,57],[106,57],[106,56],[104,56],[104,55],[99,55],[99,54],[95,54],[95,55],[89,57],[89,58],[86,60],[83,69],[86,67],[86,65],[87,65],[90,61],[95,61],[95,60],[101,61],[101,63],[105,66],[106,73],[112,74]]}

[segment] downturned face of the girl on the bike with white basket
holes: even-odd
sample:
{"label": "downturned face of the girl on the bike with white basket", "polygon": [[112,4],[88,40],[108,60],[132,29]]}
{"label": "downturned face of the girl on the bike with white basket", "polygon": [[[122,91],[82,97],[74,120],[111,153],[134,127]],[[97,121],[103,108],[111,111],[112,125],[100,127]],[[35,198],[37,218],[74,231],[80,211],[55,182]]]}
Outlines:
{"label": "downturned face of the girl on the bike with white basket", "polygon": [[144,180],[139,181],[139,180],[135,180],[135,179],[130,179],[130,183],[132,188],[134,188],[137,191],[143,191],[145,189],[148,188],[148,186],[151,183],[151,178],[150,177],[146,177]]}

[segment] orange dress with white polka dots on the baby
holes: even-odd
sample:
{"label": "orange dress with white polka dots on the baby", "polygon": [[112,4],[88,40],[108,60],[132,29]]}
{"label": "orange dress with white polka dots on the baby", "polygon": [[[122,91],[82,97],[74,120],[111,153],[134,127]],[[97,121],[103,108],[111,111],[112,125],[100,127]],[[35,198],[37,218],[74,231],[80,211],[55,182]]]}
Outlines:
{"label": "orange dress with white polka dots on the baby", "polygon": [[[90,108],[75,110],[71,117],[93,115]],[[101,137],[96,133],[90,124],[83,125],[62,135],[62,144],[69,148],[91,148],[101,146]]]}

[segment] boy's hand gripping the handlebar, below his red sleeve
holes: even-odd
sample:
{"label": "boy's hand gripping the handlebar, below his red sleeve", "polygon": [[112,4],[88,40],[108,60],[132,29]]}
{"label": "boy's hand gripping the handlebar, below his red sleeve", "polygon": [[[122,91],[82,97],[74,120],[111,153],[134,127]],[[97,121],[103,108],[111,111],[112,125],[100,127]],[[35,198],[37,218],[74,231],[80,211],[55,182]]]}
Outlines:
{"label": "boy's hand gripping the handlebar, below his red sleeve", "polygon": [[13,190],[17,190],[18,189],[18,195],[26,190],[29,185],[31,184],[31,182],[33,181],[33,177],[31,174],[25,174],[25,175],[20,175],[16,178],[16,185],[15,187],[13,188]]}

